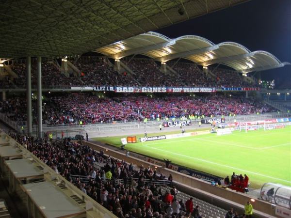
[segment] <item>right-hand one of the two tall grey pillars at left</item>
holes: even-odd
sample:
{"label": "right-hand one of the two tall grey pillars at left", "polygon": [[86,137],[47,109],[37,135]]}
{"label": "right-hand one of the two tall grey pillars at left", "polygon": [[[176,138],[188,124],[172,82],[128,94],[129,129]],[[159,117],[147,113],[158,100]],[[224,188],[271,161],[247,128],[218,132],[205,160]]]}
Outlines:
{"label": "right-hand one of the two tall grey pillars at left", "polygon": [[37,123],[38,138],[42,138],[42,90],[41,90],[41,57],[37,57]]}

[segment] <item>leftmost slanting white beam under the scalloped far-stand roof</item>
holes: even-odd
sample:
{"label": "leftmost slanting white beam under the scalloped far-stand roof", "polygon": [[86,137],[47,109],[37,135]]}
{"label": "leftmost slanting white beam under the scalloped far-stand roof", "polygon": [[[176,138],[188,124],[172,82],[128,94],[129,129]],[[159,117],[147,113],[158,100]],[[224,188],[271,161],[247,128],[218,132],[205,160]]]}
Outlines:
{"label": "leftmost slanting white beam under the scalloped far-stand roof", "polygon": [[117,54],[109,55],[108,57],[109,58],[113,58],[113,59],[121,59],[121,58],[127,57],[127,56],[132,55],[132,54],[141,54],[141,53],[145,53],[147,51],[154,50],[154,49],[157,49],[157,48],[171,46],[171,45],[174,45],[175,43],[176,43],[176,41],[172,40],[170,42],[162,42],[162,43],[150,45],[150,46],[147,46],[147,47],[133,48],[133,49],[130,49],[130,50],[118,52]]}

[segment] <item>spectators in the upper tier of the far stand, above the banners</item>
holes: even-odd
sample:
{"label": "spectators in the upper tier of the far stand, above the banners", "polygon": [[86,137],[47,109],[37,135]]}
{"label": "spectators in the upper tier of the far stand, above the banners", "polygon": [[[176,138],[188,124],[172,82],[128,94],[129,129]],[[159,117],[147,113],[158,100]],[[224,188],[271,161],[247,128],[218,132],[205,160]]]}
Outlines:
{"label": "spectators in the upper tier of the far stand, above the banners", "polygon": [[[254,87],[238,73],[217,68],[213,74],[203,72],[194,63],[167,62],[174,71],[162,72],[161,67],[152,59],[125,58],[121,61],[127,64],[133,74],[123,69],[117,72],[113,64],[104,57],[80,57],[70,60],[81,74],[66,77],[53,62],[42,63],[43,87],[70,87],[70,86],[194,86],[194,87]],[[11,69],[18,75],[13,82],[5,84],[19,88],[26,86],[26,64],[13,63]],[[175,73],[176,72],[176,73]],[[5,80],[5,79],[4,79]],[[36,87],[36,60],[32,59],[32,87]]]}

